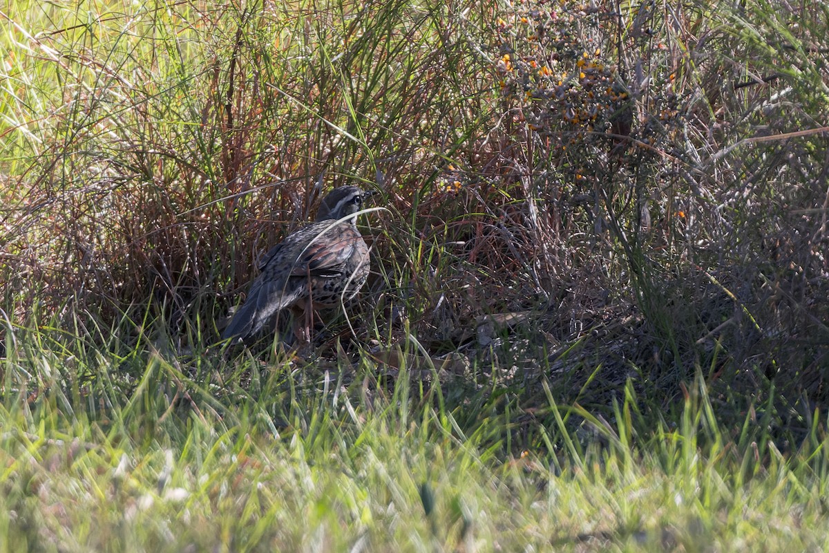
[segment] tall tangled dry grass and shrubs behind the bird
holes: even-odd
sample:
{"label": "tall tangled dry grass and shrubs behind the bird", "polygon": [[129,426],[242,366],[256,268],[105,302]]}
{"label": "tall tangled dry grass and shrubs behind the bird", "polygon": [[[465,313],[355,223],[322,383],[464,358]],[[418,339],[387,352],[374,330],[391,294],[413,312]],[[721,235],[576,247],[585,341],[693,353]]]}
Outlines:
{"label": "tall tangled dry grass and shrubs behind the bird", "polygon": [[821,7],[96,9],[5,20],[7,343],[127,319],[205,347],[257,253],[354,183],[389,209],[359,342],[823,397]]}

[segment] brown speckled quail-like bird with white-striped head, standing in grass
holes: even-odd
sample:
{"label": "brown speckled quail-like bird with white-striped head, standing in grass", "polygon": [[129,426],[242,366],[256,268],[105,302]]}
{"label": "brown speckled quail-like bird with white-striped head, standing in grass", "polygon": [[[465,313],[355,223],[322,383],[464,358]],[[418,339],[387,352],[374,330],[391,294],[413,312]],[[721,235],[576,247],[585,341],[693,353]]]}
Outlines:
{"label": "brown speckled quail-like bird with white-striped head, standing in grass", "polygon": [[259,276],[222,339],[248,342],[288,309],[294,336],[308,342],[314,311],[341,305],[366,284],[369,249],[356,228],[356,218],[374,193],[351,186],[335,188],[322,199],[315,222],[262,256]]}

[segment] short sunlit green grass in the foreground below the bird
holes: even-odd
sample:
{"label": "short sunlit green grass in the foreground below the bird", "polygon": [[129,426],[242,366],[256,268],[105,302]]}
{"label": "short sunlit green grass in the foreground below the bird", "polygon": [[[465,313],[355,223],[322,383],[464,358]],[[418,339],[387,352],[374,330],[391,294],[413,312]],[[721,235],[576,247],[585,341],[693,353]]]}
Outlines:
{"label": "short sunlit green grass in the foreground below the bird", "polygon": [[[125,361],[64,368],[38,350],[7,374],[95,378],[7,394],[8,551],[827,546],[826,420],[782,453],[768,405],[722,426],[702,379],[676,423],[649,426],[629,386],[608,423],[552,395],[526,410],[516,393],[483,400],[407,370],[222,377],[212,361],[215,375],[188,378],[151,355],[124,396]],[[522,429],[527,449],[511,447]]]}

